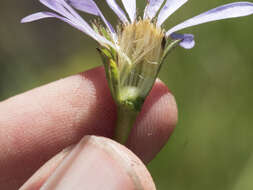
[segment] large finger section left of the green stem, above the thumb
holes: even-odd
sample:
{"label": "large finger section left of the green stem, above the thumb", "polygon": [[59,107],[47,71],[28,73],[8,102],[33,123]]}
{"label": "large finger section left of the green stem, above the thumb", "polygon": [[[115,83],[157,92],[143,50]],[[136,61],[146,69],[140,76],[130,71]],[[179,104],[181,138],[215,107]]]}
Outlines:
{"label": "large finger section left of the green stem, above the thumb", "polygon": [[103,69],[71,76],[0,104],[0,189],[16,190],[86,134],[111,136],[116,110]]}

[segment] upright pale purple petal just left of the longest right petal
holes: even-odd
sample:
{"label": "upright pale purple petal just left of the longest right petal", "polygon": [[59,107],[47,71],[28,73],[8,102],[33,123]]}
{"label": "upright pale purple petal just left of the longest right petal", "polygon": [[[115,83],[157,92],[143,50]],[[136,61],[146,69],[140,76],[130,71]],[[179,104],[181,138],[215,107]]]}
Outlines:
{"label": "upright pale purple petal just left of the longest right petal", "polygon": [[187,1],[188,0],[167,0],[158,15],[157,25],[161,26],[170,15],[183,6]]}

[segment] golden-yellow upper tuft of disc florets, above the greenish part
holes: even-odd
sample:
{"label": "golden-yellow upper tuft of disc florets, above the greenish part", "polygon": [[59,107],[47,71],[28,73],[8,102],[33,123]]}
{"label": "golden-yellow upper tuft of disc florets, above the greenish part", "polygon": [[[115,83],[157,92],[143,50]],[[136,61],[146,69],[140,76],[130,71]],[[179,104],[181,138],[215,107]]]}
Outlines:
{"label": "golden-yellow upper tuft of disc florets, above the greenish part", "polygon": [[119,47],[133,64],[143,59],[156,63],[163,52],[164,32],[150,20],[139,20],[123,26],[119,32]]}

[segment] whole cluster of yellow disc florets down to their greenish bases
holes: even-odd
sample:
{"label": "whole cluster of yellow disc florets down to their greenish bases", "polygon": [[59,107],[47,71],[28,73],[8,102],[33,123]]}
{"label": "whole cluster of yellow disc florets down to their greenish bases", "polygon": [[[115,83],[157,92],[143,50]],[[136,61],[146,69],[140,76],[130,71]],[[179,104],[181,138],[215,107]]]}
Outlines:
{"label": "whole cluster of yellow disc florets down to their greenish bases", "polygon": [[[158,73],[165,34],[150,20],[124,25],[118,32],[120,88],[136,87],[145,96]],[[126,59],[127,57],[127,59]]]}

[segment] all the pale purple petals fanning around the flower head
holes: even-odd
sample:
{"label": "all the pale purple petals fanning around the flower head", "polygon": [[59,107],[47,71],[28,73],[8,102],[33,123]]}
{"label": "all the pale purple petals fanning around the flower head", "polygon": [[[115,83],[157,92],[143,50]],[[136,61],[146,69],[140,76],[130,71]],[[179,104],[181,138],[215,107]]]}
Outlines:
{"label": "all the pale purple petals fanning around the flower head", "polygon": [[[150,22],[153,21],[156,23],[157,28],[161,29],[161,25],[168,19],[168,17],[177,11],[187,1],[188,0],[167,0],[164,4],[164,0],[148,0],[144,11],[143,20],[149,20]],[[115,32],[112,25],[106,20],[103,13],[93,0],[40,0],[40,2],[58,14],[51,12],[39,12],[23,18],[21,21],[22,23],[55,17],[81,30],[103,45],[106,44],[113,48],[117,47],[119,42],[117,38],[117,32]],[[130,25],[138,22],[136,19],[136,0],[122,0],[130,20],[127,18],[124,11],[118,6],[115,0],[106,0],[106,2],[124,25]],[[162,4],[164,4],[164,6],[161,8]],[[105,23],[107,29],[110,31],[113,40],[109,41],[104,36],[94,31],[94,29],[86,21],[84,21],[70,5],[78,10],[99,16]],[[160,8],[161,10],[159,12]],[[235,2],[226,4],[174,26],[165,33],[165,37],[171,37],[173,39],[179,38],[182,40],[180,45],[186,49],[190,49],[195,44],[193,36],[190,36],[189,38],[189,35],[175,35],[175,32],[206,22],[248,16],[251,14],[253,14],[253,3],[251,2]],[[157,20],[155,20],[156,18]]]}

